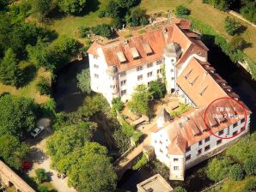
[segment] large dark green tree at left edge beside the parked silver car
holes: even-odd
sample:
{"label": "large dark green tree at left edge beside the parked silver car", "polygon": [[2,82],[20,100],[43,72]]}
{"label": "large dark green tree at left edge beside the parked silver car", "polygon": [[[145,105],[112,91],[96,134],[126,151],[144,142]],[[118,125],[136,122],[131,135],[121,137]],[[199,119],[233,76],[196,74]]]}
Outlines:
{"label": "large dark green tree at left edge beside the parked silver car", "polygon": [[0,130],[21,138],[34,129],[34,100],[6,94],[0,97],[0,111]]}

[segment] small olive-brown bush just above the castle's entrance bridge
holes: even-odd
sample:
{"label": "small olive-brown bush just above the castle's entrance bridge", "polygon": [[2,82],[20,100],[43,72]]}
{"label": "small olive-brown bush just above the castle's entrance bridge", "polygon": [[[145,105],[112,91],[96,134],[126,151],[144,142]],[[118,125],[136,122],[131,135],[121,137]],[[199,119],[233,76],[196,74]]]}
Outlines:
{"label": "small olive-brown bush just above the castle's entrance bridge", "polygon": [[113,139],[115,144],[119,148],[119,153],[125,153],[126,150],[130,147],[130,138],[125,135],[122,129],[115,129],[113,132]]}

